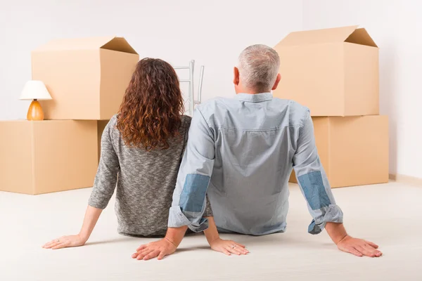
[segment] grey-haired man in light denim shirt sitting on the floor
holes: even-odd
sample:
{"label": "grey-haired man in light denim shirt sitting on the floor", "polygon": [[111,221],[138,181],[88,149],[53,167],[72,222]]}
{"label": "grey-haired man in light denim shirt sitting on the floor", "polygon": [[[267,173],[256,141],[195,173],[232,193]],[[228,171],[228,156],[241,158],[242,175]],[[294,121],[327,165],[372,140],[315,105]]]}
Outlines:
{"label": "grey-haired man in light denim shirt sitting on the floor", "polygon": [[[288,178],[292,168],[314,218],[308,232],[326,228],[338,249],[356,256],[381,256],[372,242],[347,235],[343,212],[335,204],[319,161],[309,110],[273,98],[281,75],[272,48],[245,48],[234,68],[236,98],[217,98],[198,106],[181,163],[165,239],[143,245],[134,256],[162,259],[176,251],[187,228],[220,233],[267,235],[286,230]],[[215,218],[203,218],[205,195]],[[245,254],[242,245],[224,245]],[[227,253],[226,253],[227,254]]]}

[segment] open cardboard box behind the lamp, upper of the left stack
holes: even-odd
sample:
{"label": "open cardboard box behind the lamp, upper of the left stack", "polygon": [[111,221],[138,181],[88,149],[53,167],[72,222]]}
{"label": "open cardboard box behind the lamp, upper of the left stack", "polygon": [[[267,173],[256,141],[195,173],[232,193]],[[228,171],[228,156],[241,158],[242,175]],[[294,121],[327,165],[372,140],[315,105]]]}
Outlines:
{"label": "open cardboard box behind the lamp, upper of the left stack", "polygon": [[110,119],[138,61],[121,37],[53,40],[32,51],[32,79],[53,98],[41,101],[45,119]]}

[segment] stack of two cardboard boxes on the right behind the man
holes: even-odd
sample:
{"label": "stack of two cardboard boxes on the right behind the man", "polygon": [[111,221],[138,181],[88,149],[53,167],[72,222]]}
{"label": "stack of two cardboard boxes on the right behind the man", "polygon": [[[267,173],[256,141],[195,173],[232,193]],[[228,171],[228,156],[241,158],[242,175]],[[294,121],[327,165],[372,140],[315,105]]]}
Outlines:
{"label": "stack of two cardboard boxes on the right behind the man", "polygon": [[309,107],[331,187],[388,182],[388,117],[379,115],[378,46],[368,32],[293,32],[274,49],[281,60],[274,96]]}

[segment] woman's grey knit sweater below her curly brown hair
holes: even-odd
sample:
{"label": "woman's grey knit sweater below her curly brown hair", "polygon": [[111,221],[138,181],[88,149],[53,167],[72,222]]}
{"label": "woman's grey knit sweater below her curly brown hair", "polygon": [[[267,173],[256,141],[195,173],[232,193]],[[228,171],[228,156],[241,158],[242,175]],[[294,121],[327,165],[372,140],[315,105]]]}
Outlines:
{"label": "woman's grey knit sweater below her curly brown hair", "polygon": [[[150,152],[124,145],[120,131],[116,129],[116,115],[104,129],[101,159],[89,206],[105,209],[117,183],[115,212],[120,234],[143,237],[165,235],[191,124],[191,117],[182,116],[181,120],[180,136],[168,140],[170,148]],[[212,216],[209,203],[204,216]]]}

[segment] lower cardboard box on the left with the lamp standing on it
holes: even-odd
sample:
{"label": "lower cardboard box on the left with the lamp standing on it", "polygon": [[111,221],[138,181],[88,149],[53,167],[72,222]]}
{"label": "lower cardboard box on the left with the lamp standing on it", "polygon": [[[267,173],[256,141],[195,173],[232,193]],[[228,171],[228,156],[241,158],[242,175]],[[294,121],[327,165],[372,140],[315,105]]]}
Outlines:
{"label": "lower cardboard box on the left with the lamp standing on it", "polygon": [[96,121],[0,122],[0,190],[40,194],[94,184]]}

